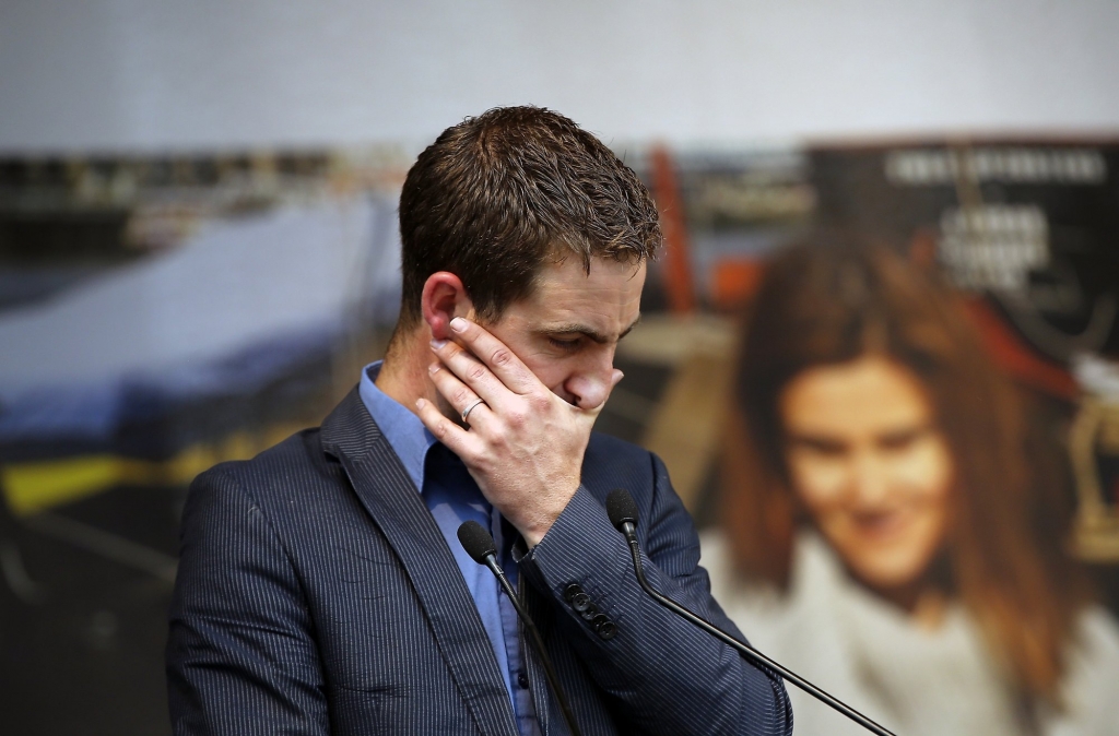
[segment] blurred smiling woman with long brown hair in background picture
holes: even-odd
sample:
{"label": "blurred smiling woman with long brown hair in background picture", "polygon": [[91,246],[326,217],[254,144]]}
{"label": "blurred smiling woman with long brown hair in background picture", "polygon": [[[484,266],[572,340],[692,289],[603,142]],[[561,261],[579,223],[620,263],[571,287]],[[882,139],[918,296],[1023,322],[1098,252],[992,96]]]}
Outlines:
{"label": "blurred smiling woman with long brown hair in background picture", "polygon": [[[1119,629],[1065,554],[1060,469],[932,275],[782,252],[735,391],[703,564],[755,647],[899,734],[1119,734]],[[798,733],[863,733],[790,695]]]}

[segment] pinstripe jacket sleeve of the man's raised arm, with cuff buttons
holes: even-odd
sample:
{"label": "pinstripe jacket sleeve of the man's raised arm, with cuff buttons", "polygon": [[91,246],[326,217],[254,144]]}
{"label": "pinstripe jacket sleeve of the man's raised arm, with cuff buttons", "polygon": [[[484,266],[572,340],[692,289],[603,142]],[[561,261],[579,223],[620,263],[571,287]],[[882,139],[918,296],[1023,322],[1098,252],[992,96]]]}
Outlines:
{"label": "pinstripe jacket sleeve of the man's raised arm, with cuff buttons", "polygon": [[[651,489],[637,499],[645,569],[652,586],[721,629],[741,633],[711,596],[699,539],[656,455]],[[521,562],[525,578],[554,600],[571,644],[600,688],[618,702],[623,730],[647,734],[792,733],[781,678],[660,606],[638,586],[623,537],[585,488]],[[565,601],[576,583],[617,626],[603,639]]]}

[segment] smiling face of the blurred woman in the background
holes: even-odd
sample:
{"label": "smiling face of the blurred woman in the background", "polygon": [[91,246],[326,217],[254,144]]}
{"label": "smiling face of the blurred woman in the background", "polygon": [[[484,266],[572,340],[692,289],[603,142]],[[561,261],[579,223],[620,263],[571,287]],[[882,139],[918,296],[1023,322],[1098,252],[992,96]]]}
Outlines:
{"label": "smiling face of the blurred woman in the background", "polygon": [[887,595],[921,578],[955,469],[918,377],[868,355],[802,371],[778,408],[792,490],[852,574]]}

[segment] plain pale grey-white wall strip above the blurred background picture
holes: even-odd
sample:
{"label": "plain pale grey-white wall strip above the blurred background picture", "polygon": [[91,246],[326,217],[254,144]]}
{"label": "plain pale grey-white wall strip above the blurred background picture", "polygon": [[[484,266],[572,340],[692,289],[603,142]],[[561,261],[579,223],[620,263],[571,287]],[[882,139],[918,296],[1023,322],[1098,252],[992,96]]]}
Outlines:
{"label": "plain pale grey-white wall strip above the blurred background picture", "polygon": [[0,151],[1119,130],[1115,0],[0,0]]}

